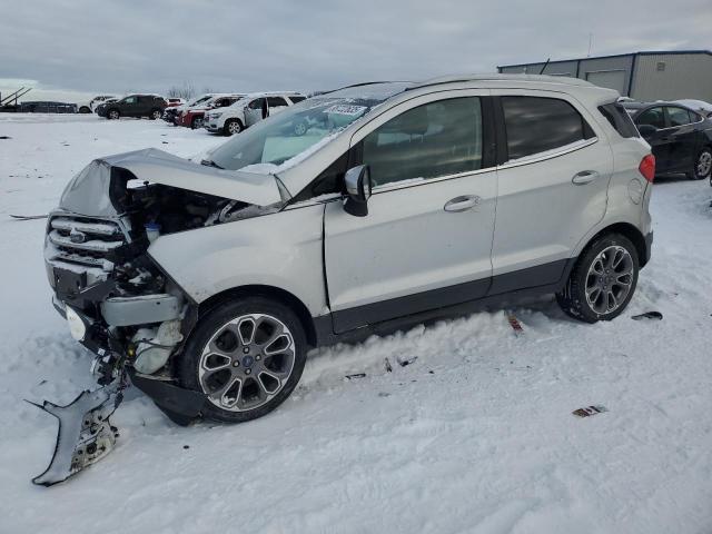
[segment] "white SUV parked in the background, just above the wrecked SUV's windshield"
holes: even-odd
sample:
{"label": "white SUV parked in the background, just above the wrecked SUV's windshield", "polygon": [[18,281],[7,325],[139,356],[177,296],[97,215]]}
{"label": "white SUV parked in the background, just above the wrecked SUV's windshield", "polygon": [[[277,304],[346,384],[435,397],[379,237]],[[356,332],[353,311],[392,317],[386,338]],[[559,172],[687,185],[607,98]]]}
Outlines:
{"label": "white SUV parked in the background, just above the wrecked SUV's windshield", "polygon": [[231,136],[304,99],[298,92],[255,92],[228,108],[208,111],[204,126],[212,134]]}

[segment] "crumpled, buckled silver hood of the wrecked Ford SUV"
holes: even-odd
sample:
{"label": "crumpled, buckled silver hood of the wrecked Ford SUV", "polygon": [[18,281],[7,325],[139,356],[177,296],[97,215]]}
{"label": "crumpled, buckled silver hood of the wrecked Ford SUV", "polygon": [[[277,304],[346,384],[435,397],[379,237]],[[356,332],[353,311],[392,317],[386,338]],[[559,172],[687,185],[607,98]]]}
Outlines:
{"label": "crumpled, buckled silver hood of the wrecked Ford SUV", "polygon": [[221,170],[147,148],[93,160],[69,181],[59,207],[81,215],[117,215],[109,197],[112,167],[126,169],[139,180],[256,206],[288,200],[288,194],[284,188],[280,192],[278,181],[271,175]]}

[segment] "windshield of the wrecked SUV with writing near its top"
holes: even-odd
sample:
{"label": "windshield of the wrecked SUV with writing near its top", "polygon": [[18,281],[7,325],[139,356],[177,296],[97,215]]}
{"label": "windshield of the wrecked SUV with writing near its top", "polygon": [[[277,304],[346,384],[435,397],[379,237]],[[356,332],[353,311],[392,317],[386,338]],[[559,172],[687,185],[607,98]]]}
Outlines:
{"label": "windshield of the wrecked SUV with writing near its top", "polygon": [[[230,170],[278,172],[328,142],[384,99],[325,95],[305,100],[235,136],[211,154],[210,164]],[[261,118],[259,109],[247,108],[246,112]]]}

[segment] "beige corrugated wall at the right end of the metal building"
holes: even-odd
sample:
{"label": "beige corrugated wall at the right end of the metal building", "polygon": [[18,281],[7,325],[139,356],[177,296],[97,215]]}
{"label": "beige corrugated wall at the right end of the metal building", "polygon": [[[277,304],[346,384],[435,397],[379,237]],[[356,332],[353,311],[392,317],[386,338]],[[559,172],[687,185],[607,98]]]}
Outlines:
{"label": "beige corrugated wall at the right end of the metal building", "polygon": [[[663,70],[659,70],[659,63]],[[636,100],[691,98],[712,102],[712,56],[661,53],[639,56],[633,93]]]}

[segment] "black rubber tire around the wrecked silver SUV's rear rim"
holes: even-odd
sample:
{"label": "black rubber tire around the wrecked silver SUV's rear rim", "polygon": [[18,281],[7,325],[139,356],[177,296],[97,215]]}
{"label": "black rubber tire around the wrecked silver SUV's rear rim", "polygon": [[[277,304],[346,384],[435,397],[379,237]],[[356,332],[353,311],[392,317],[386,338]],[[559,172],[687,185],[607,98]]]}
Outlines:
{"label": "black rubber tire around the wrecked silver SUV's rear rim", "polygon": [[[599,299],[594,299],[595,301],[591,304],[587,298],[587,289],[595,291],[595,286],[600,284],[606,284],[606,287],[610,288],[611,291],[615,291],[614,287],[622,287],[617,283],[612,283],[616,277],[615,269],[606,269],[605,274],[602,273],[602,276],[591,274],[593,264],[600,260],[600,255],[604,250],[611,250],[611,247],[624,249],[630,256],[631,273],[627,275],[627,278],[625,278],[624,275],[621,275],[623,281],[630,283],[630,287],[627,288],[625,296],[620,299],[620,303],[616,304],[614,309],[611,309],[610,312],[601,312],[601,309],[596,310],[594,308],[596,303],[600,303],[600,306],[605,306],[607,309],[607,300],[599,301]],[[621,254],[623,255],[623,253]],[[627,261],[627,258],[625,261]],[[612,270],[612,273],[609,274],[609,270]],[[633,298],[635,286],[637,285],[639,271],[640,260],[637,257],[637,250],[631,240],[620,234],[606,234],[591,243],[578,257],[564,289],[556,294],[556,301],[564,313],[574,319],[582,320],[584,323],[611,320],[621,315],[627,307],[631,298]],[[621,294],[619,294],[619,296]],[[605,294],[603,294],[602,298],[606,298]]]}

